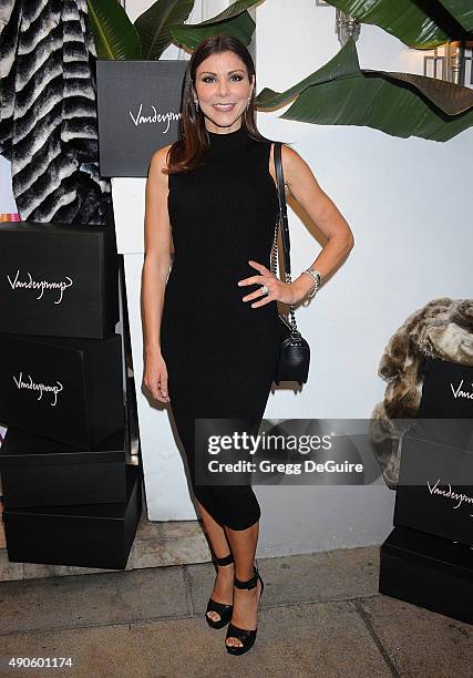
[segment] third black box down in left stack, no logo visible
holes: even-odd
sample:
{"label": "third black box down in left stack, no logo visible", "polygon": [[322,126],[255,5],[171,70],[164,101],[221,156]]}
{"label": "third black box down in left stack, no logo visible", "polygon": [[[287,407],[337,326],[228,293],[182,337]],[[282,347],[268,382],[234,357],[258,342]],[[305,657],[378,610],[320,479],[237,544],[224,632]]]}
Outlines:
{"label": "third black box down in left stack, no logo visible", "polygon": [[91,451],[9,428],[0,446],[6,508],[126,501],[128,433],[113,433]]}

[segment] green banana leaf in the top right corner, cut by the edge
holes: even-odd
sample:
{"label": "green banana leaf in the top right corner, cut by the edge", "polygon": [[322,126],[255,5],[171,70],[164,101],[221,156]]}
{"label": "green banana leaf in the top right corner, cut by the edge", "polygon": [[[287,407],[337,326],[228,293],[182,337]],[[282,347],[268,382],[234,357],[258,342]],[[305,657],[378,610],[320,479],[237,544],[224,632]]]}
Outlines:
{"label": "green banana leaf in the top right corner, cut by the edge", "polygon": [[471,0],[327,0],[361,23],[373,23],[417,49],[467,38]]}

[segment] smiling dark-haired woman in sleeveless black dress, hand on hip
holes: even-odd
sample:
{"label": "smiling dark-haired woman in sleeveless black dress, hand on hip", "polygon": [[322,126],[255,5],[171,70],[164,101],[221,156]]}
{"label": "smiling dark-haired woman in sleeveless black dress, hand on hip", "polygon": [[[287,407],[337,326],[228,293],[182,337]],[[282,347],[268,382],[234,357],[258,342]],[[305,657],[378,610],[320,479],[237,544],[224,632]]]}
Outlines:
{"label": "smiling dark-haired woman in sleeveless black dress, hand on hip", "polygon": [[328,242],[291,284],[269,271],[278,201],[273,143],[255,125],[255,91],[253,59],[235,38],[215,35],[193,53],[181,138],[150,165],[142,287],[144,382],[171,405],[217,565],[206,620],[214,628],[230,623],[226,648],[238,655],[256,637],[260,510],[249,485],[196,482],[194,422],[260,423],[280,341],[277,301],[304,299],[316,285],[312,270],[326,278],[353,246],[308,165],[284,145],[287,188]]}

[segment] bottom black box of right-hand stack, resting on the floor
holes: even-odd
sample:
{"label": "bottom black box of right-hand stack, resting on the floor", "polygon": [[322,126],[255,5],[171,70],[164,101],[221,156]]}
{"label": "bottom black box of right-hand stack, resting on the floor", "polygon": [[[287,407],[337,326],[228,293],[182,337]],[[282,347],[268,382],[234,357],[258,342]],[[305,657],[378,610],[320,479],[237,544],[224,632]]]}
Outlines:
{"label": "bottom black box of right-hand stack, resting on the floor", "polygon": [[473,549],[397,526],[381,546],[379,592],[473,624]]}

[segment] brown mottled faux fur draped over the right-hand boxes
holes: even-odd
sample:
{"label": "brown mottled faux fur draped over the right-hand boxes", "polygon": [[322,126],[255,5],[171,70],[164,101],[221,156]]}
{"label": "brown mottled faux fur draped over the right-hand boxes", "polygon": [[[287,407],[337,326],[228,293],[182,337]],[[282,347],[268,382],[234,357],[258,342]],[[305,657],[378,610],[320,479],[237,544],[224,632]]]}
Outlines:
{"label": "brown mottled faux fur draped over the right-hand boxes", "polygon": [[384,481],[395,489],[400,441],[418,415],[428,358],[473,366],[473,299],[434,299],[414,311],[391,337],[378,374],[388,382],[370,425],[371,443]]}

